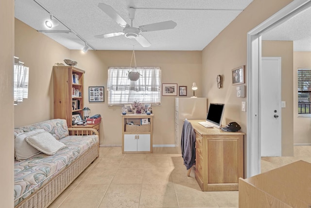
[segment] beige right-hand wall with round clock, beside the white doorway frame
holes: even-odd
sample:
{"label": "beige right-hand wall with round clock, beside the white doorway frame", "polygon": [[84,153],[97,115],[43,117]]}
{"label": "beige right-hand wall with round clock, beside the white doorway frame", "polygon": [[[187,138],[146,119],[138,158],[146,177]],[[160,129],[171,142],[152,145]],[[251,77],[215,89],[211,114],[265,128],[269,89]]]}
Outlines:
{"label": "beige right-hand wall with round clock, beside the white doorway frame", "polygon": [[[203,49],[202,86],[204,90],[202,96],[207,97],[208,102],[225,103],[223,125],[237,121],[242,131],[246,133],[246,112],[241,111],[241,102],[246,101],[247,98],[236,97],[236,86],[232,85],[231,70],[246,65],[247,33],[290,2],[292,0],[253,0]],[[218,74],[224,77],[222,89],[217,88],[216,76]],[[247,77],[247,66],[245,77]],[[245,81],[247,83],[246,79]],[[246,141],[247,135],[244,136],[244,155],[246,155]],[[245,157],[244,159],[246,162]]]}

